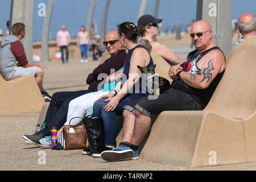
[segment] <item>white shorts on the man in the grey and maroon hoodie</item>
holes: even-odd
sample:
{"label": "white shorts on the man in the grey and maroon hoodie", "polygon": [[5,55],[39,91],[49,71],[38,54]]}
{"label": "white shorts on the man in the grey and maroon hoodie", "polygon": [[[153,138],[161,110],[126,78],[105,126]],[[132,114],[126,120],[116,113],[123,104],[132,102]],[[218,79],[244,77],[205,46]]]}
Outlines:
{"label": "white shorts on the man in the grey and maroon hoodie", "polygon": [[5,77],[5,80],[13,80],[14,78],[23,76],[23,75],[32,75],[35,76],[36,73],[36,69],[38,69],[38,67],[16,67],[14,69],[14,71],[9,75],[7,75]]}

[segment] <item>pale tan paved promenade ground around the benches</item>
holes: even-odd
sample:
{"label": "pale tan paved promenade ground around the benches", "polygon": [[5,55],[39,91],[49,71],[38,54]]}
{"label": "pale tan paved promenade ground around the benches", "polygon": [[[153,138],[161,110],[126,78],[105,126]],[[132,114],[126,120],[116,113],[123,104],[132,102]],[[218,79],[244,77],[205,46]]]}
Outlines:
{"label": "pale tan paved promenade ground around the benches", "polygon": [[[185,60],[189,40],[183,42],[172,41],[172,47],[178,47],[181,60]],[[167,41],[166,41],[167,42]],[[167,43],[168,44],[168,43]],[[170,45],[170,44],[168,44]],[[178,45],[178,46],[177,46]],[[180,47],[184,47],[180,48]],[[171,46],[169,46],[171,48]],[[187,47],[187,48],[186,48]],[[185,53],[184,53],[185,52]],[[80,63],[79,59],[72,59],[69,64],[62,65],[61,61],[43,62],[44,88],[49,94],[59,91],[86,89],[85,80],[98,61],[89,59],[89,63]],[[0,170],[255,170],[256,163],[237,164],[231,166],[205,167],[189,169],[148,162],[142,159],[125,162],[105,162],[101,158],[92,158],[81,154],[81,150],[56,151],[50,148],[36,147],[26,144],[23,134],[32,134],[38,121],[39,113],[0,115]],[[43,156],[45,156],[45,164]]]}

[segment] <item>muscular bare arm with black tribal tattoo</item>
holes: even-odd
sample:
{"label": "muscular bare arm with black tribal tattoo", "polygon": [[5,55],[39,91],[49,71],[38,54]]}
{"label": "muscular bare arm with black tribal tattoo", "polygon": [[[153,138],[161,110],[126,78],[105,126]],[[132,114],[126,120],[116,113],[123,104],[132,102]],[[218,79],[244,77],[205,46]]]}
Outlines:
{"label": "muscular bare arm with black tribal tattoo", "polygon": [[213,51],[212,53],[209,53],[209,55],[202,57],[202,59],[204,59],[204,62],[201,67],[200,75],[181,72],[180,80],[193,88],[205,89],[208,88],[218,73],[224,71],[226,67],[224,56],[218,51]]}

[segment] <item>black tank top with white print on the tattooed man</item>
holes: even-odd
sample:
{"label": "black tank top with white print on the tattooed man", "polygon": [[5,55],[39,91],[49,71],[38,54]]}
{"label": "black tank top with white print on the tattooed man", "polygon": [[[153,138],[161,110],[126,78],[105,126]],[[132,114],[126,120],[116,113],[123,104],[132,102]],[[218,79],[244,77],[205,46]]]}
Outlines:
{"label": "black tank top with white print on the tattooed man", "polygon": [[[210,52],[214,49],[219,49],[221,51],[221,49],[219,47],[213,47],[213,48],[207,49],[206,51],[201,52],[197,55],[195,55],[196,52],[198,51],[197,49],[195,51],[190,52],[188,54],[187,60],[186,60],[186,61],[189,61],[189,63],[191,63],[191,69],[188,71],[188,73],[192,73],[194,75],[200,75],[201,69],[199,69],[197,67],[197,65],[196,65],[197,61],[199,61],[201,59],[201,57],[203,57],[208,52]],[[225,58],[225,61],[226,61],[226,58]],[[189,96],[191,96],[193,98],[193,100],[198,102],[198,104],[200,104],[204,109],[204,107],[206,107],[208,102],[210,101],[210,98],[212,97],[214,90],[216,89],[218,83],[220,82],[222,76],[224,75],[224,72],[225,72],[225,70],[222,71],[221,73],[218,73],[218,75],[213,79],[213,81],[210,83],[210,85],[206,89],[193,88],[193,87],[185,84],[185,82],[183,82],[182,80],[172,81],[171,86],[173,89],[182,90],[185,93],[189,94]]]}

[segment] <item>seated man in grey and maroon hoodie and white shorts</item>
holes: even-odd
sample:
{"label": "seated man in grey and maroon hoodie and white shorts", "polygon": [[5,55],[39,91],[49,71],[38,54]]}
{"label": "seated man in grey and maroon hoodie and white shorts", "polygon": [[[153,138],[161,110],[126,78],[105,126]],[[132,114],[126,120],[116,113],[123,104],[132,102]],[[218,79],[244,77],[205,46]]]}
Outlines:
{"label": "seated man in grey and maroon hoodie and white shorts", "polygon": [[23,23],[15,23],[11,28],[13,35],[6,36],[0,51],[0,73],[5,80],[12,80],[23,75],[35,76],[36,83],[45,101],[51,101],[51,96],[43,88],[44,72],[38,64],[27,61],[24,47],[20,42],[25,37]]}

